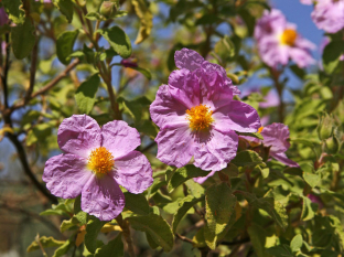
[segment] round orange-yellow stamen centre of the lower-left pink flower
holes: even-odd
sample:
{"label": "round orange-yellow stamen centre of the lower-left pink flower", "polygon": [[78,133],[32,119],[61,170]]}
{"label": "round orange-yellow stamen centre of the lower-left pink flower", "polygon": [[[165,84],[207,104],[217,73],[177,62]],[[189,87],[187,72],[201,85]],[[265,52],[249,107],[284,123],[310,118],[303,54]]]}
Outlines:
{"label": "round orange-yellow stamen centre of the lower-left pink flower", "polygon": [[107,174],[114,165],[114,157],[105,147],[96,148],[88,157],[88,168],[97,175]]}

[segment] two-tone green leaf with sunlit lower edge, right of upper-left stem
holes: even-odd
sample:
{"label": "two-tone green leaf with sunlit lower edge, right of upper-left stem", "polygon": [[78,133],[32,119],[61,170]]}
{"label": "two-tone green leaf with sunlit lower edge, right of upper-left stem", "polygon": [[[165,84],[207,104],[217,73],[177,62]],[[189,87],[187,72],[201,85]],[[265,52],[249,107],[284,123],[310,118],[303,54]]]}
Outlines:
{"label": "two-tone green leaf with sunlit lower edge, right of upper-left stem", "polygon": [[131,43],[129,36],[119,28],[112,26],[110,29],[98,30],[100,35],[106,39],[110,46],[123,58],[131,55]]}

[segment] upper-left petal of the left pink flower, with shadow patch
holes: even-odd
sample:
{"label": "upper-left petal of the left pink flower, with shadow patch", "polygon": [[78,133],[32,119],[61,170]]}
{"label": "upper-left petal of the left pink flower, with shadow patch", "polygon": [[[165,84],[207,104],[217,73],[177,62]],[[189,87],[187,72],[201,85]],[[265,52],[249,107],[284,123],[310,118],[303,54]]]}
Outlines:
{"label": "upper-left petal of the left pink flower, with shadow patch", "polygon": [[100,127],[87,115],[73,115],[60,125],[57,142],[64,152],[87,159],[93,149],[100,147]]}

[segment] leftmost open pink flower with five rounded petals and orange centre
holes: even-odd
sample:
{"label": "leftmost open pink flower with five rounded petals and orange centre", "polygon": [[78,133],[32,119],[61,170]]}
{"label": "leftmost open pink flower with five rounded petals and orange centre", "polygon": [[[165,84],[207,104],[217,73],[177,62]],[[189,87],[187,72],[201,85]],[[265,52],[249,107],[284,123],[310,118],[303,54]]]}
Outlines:
{"label": "leftmost open pink flower with five rounded petals and orange centre", "polygon": [[152,182],[147,158],[135,149],[140,135],[125,121],[101,128],[86,115],[73,115],[58,128],[57,142],[64,153],[49,159],[43,181],[56,196],[82,194],[82,210],[100,221],[110,221],[125,206],[119,184],[130,193],[142,193]]}

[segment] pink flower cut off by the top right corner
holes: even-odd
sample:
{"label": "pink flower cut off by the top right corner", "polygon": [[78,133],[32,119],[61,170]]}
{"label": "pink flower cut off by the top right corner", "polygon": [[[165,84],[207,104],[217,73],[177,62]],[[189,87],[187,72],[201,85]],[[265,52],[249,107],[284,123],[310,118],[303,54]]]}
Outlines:
{"label": "pink flower cut off by the top right corner", "polygon": [[302,0],[301,2],[315,3],[311,17],[318,29],[336,33],[344,28],[344,0]]}

